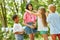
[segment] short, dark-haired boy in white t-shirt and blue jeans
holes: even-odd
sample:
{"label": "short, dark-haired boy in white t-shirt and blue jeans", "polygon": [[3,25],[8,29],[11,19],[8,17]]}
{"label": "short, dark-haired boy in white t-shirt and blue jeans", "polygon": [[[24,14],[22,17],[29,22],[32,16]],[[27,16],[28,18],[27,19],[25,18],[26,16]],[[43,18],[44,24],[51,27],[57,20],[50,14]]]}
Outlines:
{"label": "short, dark-haired boy in white t-shirt and blue jeans", "polygon": [[19,24],[18,15],[13,15],[12,19],[14,21],[13,33],[15,34],[16,40],[23,40],[24,30],[23,30],[21,24]]}

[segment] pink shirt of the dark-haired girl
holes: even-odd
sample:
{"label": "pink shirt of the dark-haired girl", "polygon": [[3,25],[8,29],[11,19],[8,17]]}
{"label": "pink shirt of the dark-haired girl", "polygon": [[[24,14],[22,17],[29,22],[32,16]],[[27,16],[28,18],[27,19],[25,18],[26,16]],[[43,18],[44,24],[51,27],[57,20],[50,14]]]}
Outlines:
{"label": "pink shirt of the dark-haired girl", "polygon": [[24,19],[25,23],[29,23],[29,22],[33,22],[34,23],[34,22],[36,22],[36,16],[31,14],[31,13],[29,13],[29,12],[25,12],[24,13],[23,19]]}

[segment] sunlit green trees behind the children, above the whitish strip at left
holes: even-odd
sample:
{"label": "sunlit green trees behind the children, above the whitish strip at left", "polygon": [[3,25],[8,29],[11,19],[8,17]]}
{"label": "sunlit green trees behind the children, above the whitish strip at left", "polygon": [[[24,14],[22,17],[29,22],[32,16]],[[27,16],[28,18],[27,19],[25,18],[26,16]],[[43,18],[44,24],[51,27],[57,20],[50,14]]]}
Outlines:
{"label": "sunlit green trees behind the children, above the whitish strip at left", "polygon": [[49,4],[55,4],[57,12],[60,13],[60,0],[0,0],[0,27],[13,27],[12,15],[14,14],[19,15],[22,24],[28,2],[33,4],[34,10],[40,6],[44,6],[47,10]]}

